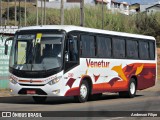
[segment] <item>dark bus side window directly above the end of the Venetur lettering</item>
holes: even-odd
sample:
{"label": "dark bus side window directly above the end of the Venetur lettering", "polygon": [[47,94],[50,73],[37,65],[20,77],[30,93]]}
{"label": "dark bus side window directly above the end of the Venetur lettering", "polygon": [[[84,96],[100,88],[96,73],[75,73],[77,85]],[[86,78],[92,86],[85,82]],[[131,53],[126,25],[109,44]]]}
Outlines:
{"label": "dark bus side window directly above the end of the Venetur lettering", "polygon": [[97,56],[111,57],[111,39],[105,37],[97,37]]}

